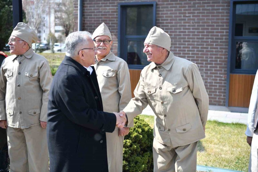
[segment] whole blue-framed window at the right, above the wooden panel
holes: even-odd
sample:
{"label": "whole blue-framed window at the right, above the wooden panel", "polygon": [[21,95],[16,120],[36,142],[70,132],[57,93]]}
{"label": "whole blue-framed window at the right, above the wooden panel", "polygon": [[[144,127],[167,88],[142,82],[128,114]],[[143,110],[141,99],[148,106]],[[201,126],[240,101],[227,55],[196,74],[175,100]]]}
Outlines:
{"label": "whole blue-framed window at the right, above the wooden panel", "polygon": [[258,1],[231,0],[228,71],[255,74],[258,69]]}

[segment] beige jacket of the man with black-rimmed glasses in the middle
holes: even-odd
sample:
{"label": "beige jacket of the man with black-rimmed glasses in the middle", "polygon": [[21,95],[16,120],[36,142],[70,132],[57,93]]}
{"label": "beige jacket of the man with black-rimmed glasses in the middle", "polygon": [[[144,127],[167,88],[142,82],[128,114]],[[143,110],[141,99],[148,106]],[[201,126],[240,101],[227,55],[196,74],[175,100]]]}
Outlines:
{"label": "beige jacket of the man with black-rimmed glasses in the middle", "polygon": [[110,51],[94,64],[105,112],[120,112],[130,99],[131,84],[127,63]]}

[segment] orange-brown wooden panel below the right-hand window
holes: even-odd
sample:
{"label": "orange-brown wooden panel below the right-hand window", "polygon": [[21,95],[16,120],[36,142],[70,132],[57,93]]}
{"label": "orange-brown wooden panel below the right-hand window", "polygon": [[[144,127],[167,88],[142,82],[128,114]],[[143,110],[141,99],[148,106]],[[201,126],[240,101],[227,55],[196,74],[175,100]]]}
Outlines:
{"label": "orange-brown wooden panel below the right-hand window", "polygon": [[249,107],[255,75],[230,74],[228,106]]}

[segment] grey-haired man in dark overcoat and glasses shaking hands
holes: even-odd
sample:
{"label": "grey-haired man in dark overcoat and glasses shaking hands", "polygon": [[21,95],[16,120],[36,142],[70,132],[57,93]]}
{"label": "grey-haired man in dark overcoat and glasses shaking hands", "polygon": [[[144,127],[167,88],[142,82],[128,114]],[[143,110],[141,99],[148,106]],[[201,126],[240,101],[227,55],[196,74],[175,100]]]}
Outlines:
{"label": "grey-haired man in dark overcoat and glasses shaking hands", "polygon": [[125,116],[103,112],[89,32],[73,32],[51,86],[47,139],[51,172],[105,172],[105,132],[122,128]]}

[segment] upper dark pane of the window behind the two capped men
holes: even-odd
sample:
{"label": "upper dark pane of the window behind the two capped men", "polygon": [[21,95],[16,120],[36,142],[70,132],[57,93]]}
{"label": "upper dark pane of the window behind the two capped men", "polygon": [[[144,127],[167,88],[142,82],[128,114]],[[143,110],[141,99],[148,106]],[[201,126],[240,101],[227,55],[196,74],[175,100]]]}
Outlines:
{"label": "upper dark pane of the window behind the two capped men", "polygon": [[153,27],[153,6],[126,8],[126,35],[148,35]]}

